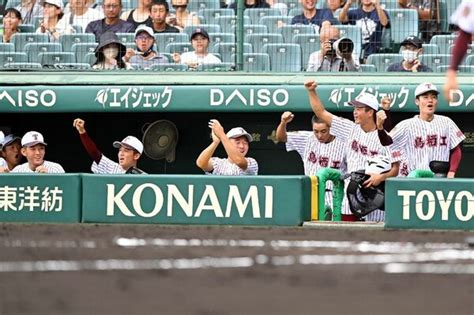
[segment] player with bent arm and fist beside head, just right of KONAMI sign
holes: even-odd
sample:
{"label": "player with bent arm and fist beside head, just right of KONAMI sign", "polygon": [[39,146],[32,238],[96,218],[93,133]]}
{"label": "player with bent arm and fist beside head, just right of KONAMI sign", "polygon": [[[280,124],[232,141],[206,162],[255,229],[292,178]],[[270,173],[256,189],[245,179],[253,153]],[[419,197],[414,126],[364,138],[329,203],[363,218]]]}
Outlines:
{"label": "player with bent arm and fist beside head, just right of KONAMI sign", "polygon": [[[280,124],[277,127],[276,138],[286,143],[286,150],[296,151],[301,157],[304,165],[304,174],[315,176],[316,173],[326,167],[341,170],[344,167],[344,142],[330,133],[329,126],[320,118],[313,116],[311,124],[313,131],[286,131],[288,123],[293,121],[294,114],[284,112],[281,115]],[[342,168],[342,169],[341,169]],[[326,205],[332,205],[332,183],[326,186]]]}

